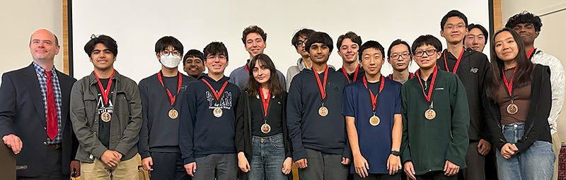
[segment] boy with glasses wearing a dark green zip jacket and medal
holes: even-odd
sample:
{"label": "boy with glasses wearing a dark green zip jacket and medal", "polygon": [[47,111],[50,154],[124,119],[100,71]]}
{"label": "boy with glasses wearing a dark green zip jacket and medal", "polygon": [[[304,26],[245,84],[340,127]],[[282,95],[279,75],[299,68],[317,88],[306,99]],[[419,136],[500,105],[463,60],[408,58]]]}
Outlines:
{"label": "boy with glasses wearing a dark green zip jacket and medal", "polygon": [[421,35],[412,43],[420,68],[401,88],[401,162],[411,179],[456,179],[454,175],[466,168],[466,89],[458,76],[437,67],[441,47],[432,35]]}

